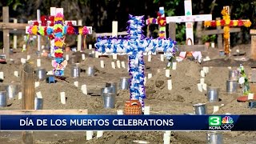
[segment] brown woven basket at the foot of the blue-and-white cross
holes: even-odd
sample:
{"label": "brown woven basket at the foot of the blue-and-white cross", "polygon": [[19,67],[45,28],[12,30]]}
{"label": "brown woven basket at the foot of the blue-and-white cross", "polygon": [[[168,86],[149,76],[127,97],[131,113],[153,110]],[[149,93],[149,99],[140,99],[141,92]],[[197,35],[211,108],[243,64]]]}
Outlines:
{"label": "brown woven basket at the foot of the blue-and-white cross", "polygon": [[142,114],[142,105],[138,100],[129,100],[126,101],[125,115],[139,115]]}

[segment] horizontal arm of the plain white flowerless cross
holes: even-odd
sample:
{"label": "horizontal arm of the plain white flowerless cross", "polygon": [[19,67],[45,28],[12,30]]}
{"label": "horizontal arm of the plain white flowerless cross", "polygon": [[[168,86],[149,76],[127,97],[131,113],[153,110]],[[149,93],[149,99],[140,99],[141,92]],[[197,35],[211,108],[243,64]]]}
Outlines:
{"label": "horizontal arm of the plain white flowerless cross", "polygon": [[200,22],[212,20],[211,14],[166,17],[166,22]]}

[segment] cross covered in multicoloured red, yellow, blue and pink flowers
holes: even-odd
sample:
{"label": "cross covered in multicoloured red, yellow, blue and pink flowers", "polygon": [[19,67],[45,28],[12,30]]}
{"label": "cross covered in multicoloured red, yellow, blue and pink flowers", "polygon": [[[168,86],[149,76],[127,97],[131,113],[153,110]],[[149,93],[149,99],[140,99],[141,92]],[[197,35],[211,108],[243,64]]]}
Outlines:
{"label": "cross covered in multicoloured red, yellow, blue and pink flowers", "polygon": [[72,22],[64,23],[63,9],[56,8],[56,15],[54,16],[54,26],[38,26],[38,22],[34,22],[26,28],[28,34],[38,34],[43,36],[48,36],[52,41],[54,41],[54,46],[51,46],[52,51],[54,51],[54,61],[52,66],[54,66],[53,73],[55,76],[63,76],[64,69],[67,65],[66,60],[63,58],[63,46],[66,34],[91,34],[91,31],[87,29],[86,26],[74,26]]}

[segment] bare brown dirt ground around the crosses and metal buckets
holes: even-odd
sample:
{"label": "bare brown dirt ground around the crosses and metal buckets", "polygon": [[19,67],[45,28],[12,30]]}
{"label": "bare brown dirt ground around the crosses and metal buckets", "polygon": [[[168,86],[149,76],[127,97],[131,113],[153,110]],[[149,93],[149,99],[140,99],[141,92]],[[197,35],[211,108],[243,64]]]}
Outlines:
{"label": "bare brown dirt ground around the crosses and metal buckets", "polygon": [[[235,46],[235,50],[246,51],[246,57],[250,57],[250,45]],[[22,70],[21,58],[26,58],[26,53],[22,53],[21,49],[14,50],[16,53],[11,54],[10,58],[14,61],[0,65],[0,71],[4,72],[4,81],[2,86],[10,82],[20,82],[20,78],[14,76],[14,71]],[[116,114],[116,110],[123,110],[125,101],[129,99],[129,90],[118,90],[116,97],[115,108],[106,110],[102,106],[102,97],[99,96],[100,89],[106,82],[119,82],[120,77],[128,77],[127,69],[111,68],[113,59],[101,57],[91,58],[89,53],[92,50],[85,50],[86,60],[81,61],[79,66],[82,70],[86,70],[86,66],[94,65],[97,69],[94,77],[88,77],[86,73],[81,73],[80,78],[70,78],[69,64],[65,70],[66,81],[58,81],[54,84],[48,84],[45,81],[40,82],[40,86],[36,88],[36,92],[41,91],[43,97],[43,109],[88,109],[89,114]],[[71,55],[72,52],[66,54]],[[211,59],[222,58],[218,55],[218,50],[210,48],[202,53],[203,58],[209,56]],[[38,58],[35,50],[30,50],[31,59],[36,63]],[[42,67],[47,71],[52,70],[50,58],[39,57],[42,61]],[[127,63],[127,56],[118,56],[120,61]],[[208,113],[213,113],[213,106],[221,106],[217,114],[255,114],[255,109],[247,108],[247,103],[237,102],[236,98],[242,95],[242,90],[239,89],[237,94],[226,94],[226,80],[228,79],[227,67],[210,67],[209,74],[206,74],[207,86],[217,86],[220,88],[220,102],[208,102],[206,91],[198,91],[197,83],[200,80],[200,70],[202,66],[198,62],[183,60],[178,62],[177,70],[171,70],[171,79],[173,89],[167,90],[167,78],[165,76],[165,62],[160,61],[160,55],[154,55],[151,62],[147,62],[147,56],[144,57],[146,62],[146,76],[153,74],[153,77],[146,81],[146,106],[150,106],[150,114],[191,114],[194,113],[193,105],[197,103],[206,103]],[[104,60],[105,68],[100,67],[100,60]],[[126,65],[127,68],[127,65]],[[234,67],[236,69],[237,67]],[[251,74],[250,68],[246,68],[246,73]],[[19,73],[20,74],[20,73]],[[74,81],[78,81],[79,86],[74,86]],[[81,86],[86,84],[88,94],[82,94]],[[66,105],[63,105],[60,100],[60,92],[66,92]],[[0,110],[20,110],[22,106],[21,100],[18,97],[8,100],[6,108]],[[1,112],[0,112],[1,113]],[[85,132],[34,132],[36,143],[106,143],[106,144],[124,144],[136,143],[134,140],[141,140],[150,143],[162,143],[163,133],[159,131],[146,132],[104,132],[101,138],[94,138],[86,141]],[[225,132],[223,133],[224,143],[244,144],[256,143],[255,132]],[[21,132],[0,132],[1,144],[21,143]],[[206,143],[206,132],[172,132],[171,143]]]}

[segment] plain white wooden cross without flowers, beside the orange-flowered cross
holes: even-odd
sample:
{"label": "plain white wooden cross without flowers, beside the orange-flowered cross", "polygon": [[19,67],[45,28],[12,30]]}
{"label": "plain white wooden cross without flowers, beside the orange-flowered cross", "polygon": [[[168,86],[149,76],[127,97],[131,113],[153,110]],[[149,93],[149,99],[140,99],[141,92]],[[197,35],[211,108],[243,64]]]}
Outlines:
{"label": "plain white wooden cross without flowers, beside the orange-flowered cross", "polygon": [[186,22],[186,39],[191,38],[194,43],[193,22],[210,21],[212,20],[211,14],[198,14],[192,15],[192,2],[191,0],[184,1],[185,16],[166,17],[166,23],[169,22]]}

